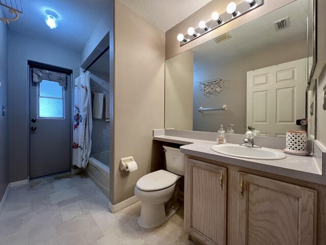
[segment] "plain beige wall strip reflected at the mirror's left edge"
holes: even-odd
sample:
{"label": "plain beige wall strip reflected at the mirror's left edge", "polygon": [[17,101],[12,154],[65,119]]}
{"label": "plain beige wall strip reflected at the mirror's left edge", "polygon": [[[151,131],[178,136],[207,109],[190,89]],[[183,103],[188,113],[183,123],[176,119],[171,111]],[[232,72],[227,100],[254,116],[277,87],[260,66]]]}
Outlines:
{"label": "plain beige wall strip reflected at the mirror's left edge", "polygon": [[166,61],[165,128],[193,130],[194,53],[188,50]]}

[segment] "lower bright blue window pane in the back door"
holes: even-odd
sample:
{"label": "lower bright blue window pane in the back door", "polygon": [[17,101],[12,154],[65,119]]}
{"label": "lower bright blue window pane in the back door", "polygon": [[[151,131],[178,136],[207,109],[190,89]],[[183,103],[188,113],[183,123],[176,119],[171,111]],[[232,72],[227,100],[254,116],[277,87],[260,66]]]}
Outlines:
{"label": "lower bright blue window pane in the back door", "polygon": [[40,97],[39,117],[59,117],[63,118],[63,100]]}

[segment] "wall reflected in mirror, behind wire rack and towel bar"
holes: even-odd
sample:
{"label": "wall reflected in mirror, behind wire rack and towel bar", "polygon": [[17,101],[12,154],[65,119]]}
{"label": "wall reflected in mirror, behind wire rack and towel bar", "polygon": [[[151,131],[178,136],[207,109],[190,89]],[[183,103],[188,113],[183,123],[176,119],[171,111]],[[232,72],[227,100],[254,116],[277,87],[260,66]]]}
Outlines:
{"label": "wall reflected in mirror, behind wire rack and towel bar", "polygon": [[[221,124],[225,130],[229,124],[234,124],[235,133],[244,134],[247,128],[247,71],[302,59],[306,57],[306,52],[305,40],[298,40],[196,71],[194,74],[194,130],[216,132]],[[223,91],[203,95],[199,82],[216,78],[223,79]],[[304,94],[302,96],[304,100]],[[223,105],[228,106],[227,111],[198,112],[201,106],[216,108]]]}

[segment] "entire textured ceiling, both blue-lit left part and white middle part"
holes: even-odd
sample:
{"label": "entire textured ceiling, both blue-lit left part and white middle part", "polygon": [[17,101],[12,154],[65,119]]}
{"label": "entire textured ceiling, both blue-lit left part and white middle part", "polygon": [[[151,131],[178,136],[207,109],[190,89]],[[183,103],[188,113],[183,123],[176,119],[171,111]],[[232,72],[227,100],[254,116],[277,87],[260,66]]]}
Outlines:
{"label": "entire textured ceiling, both blue-lit left part and white middle part", "polygon": [[[24,13],[10,22],[12,31],[51,40],[79,52],[92,34],[104,11],[107,0],[22,0]],[[163,31],[191,15],[211,0],[120,0],[132,11]],[[12,15],[1,7],[5,16]],[[58,14],[58,27],[49,29],[44,21],[45,10]],[[0,23],[2,24],[2,23]]]}

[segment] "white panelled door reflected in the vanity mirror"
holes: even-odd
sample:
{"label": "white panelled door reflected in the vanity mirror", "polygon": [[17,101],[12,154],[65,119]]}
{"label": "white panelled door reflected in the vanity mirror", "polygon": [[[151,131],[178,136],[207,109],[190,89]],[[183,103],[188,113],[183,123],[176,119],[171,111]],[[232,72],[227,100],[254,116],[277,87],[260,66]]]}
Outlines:
{"label": "white panelled door reflected in the vanity mirror", "polygon": [[295,120],[306,116],[306,60],[247,72],[247,127],[274,137],[304,129]]}

